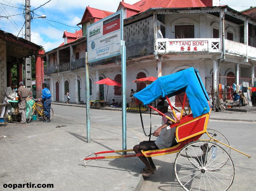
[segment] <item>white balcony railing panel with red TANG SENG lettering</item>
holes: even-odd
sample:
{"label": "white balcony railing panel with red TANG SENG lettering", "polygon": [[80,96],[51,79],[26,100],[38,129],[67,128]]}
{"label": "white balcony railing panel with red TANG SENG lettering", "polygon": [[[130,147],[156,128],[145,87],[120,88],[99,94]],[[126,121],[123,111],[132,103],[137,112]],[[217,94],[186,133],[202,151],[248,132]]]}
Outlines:
{"label": "white balcony railing panel with red TANG SENG lettering", "polygon": [[158,54],[172,52],[221,52],[220,39],[156,39]]}

